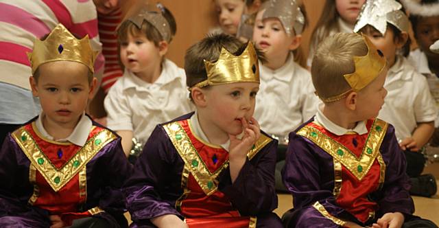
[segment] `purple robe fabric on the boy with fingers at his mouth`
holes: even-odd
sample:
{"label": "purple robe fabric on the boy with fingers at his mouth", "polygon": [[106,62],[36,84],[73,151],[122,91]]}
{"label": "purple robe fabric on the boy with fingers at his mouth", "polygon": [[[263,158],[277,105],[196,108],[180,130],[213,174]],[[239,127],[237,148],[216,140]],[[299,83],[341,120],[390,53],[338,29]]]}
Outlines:
{"label": "purple robe fabric on the boy with fingers at his mouth", "polygon": [[[189,119],[193,113],[172,122]],[[171,123],[171,122],[170,122]],[[134,174],[123,186],[132,227],[153,227],[151,218],[175,214],[184,218],[176,207],[183,194],[180,157],[164,128],[156,126],[139,157]],[[252,159],[247,159],[234,183],[229,168],[217,176],[217,190],[224,193],[242,216],[257,216],[257,226],[282,227],[272,214],[277,207],[274,169],[277,141],[271,140]]]}

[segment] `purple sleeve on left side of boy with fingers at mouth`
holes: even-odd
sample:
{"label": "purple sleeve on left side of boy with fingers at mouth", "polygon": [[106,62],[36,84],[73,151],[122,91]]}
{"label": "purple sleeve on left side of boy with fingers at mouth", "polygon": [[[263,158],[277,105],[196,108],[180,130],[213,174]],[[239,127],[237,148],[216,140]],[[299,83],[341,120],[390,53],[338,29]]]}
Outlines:
{"label": "purple sleeve on left side of boy with fingers at mouth", "polygon": [[182,217],[174,208],[182,194],[178,176],[183,166],[176,155],[163,127],[156,126],[122,190],[134,224],[147,225],[151,218],[165,214]]}

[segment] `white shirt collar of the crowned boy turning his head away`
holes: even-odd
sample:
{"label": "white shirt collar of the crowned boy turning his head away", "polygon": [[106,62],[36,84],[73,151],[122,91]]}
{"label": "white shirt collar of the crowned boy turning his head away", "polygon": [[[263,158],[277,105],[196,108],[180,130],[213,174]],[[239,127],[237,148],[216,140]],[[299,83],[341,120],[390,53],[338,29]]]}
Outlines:
{"label": "white shirt collar of the crowned boy turning his head away", "polygon": [[316,121],[320,126],[324,127],[325,129],[329,130],[331,133],[335,135],[346,135],[348,133],[357,133],[358,135],[363,135],[368,133],[368,128],[366,128],[366,122],[360,121],[357,122],[357,125],[355,125],[355,128],[353,129],[346,129],[342,126],[338,126],[337,124],[334,124],[330,119],[328,119],[323,113],[322,113],[322,107],[324,104],[321,104],[319,108],[317,109],[316,117],[314,118],[314,121]]}

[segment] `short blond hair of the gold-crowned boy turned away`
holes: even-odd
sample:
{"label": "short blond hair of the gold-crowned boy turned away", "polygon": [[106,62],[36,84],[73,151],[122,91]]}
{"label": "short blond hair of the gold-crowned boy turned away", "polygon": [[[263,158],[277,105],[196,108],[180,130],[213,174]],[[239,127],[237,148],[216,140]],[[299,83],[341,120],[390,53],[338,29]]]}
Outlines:
{"label": "short blond hair of the gold-crowned boy turned away", "polygon": [[313,85],[320,98],[332,98],[351,89],[344,75],[355,71],[353,56],[366,54],[368,46],[358,34],[337,33],[320,43],[311,65]]}

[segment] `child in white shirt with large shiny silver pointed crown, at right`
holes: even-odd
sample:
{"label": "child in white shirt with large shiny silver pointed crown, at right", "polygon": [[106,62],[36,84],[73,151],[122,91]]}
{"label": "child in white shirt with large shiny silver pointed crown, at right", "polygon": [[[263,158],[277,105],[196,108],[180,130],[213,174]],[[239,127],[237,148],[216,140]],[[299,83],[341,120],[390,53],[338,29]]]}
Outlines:
{"label": "child in white shirt with large shiny silver pointed crown, at right", "polygon": [[437,108],[427,80],[405,58],[410,50],[410,25],[401,4],[394,0],[383,1],[387,7],[379,4],[381,1],[366,2],[354,32],[366,34],[388,61],[390,69],[384,84],[388,96],[378,117],[396,130],[407,159],[407,174],[414,178],[410,192],[431,196],[436,194],[436,181],[431,175],[420,176],[425,166],[421,151],[434,132]]}

